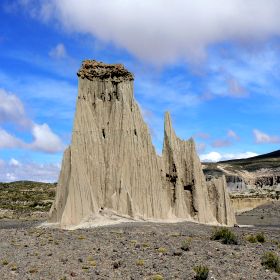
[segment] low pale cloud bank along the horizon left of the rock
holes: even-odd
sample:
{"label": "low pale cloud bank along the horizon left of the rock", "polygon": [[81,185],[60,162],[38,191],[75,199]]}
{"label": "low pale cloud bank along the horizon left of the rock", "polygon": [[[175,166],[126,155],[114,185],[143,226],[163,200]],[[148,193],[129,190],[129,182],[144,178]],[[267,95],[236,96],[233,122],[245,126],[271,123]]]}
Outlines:
{"label": "low pale cloud bank along the horizon left of the rock", "polygon": [[11,159],[9,162],[0,160],[0,166],[0,182],[18,180],[56,182],[60,172],[59,164],[20,163],[16,159]]}

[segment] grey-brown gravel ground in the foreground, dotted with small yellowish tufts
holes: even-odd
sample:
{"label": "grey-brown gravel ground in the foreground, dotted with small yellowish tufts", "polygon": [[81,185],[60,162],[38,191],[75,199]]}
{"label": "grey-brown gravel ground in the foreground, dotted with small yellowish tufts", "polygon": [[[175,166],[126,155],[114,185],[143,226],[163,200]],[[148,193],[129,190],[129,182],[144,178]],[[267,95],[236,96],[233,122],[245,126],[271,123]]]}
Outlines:
{"label": "grey-brown gravel ground in the foreground, dotted with small yellowish tufts", "polygon": [[[125,223],[65,231],[38,222],[0,220],[0,279],[280,279],[261,265],[264,252],[280,255],[280,228],[233,228],[239,245],[210,240],[214,227],[195,223]],[[264,232],[266,242],[249,243]],[[189,251],[182,242],[191,237]]]}

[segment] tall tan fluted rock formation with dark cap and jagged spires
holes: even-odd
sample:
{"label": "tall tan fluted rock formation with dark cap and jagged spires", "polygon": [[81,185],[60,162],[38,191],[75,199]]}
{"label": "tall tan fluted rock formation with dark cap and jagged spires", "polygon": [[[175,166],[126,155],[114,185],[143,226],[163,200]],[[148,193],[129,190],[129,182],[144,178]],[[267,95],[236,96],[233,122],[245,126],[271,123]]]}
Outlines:
{"label": "tall tan fluted rock formation with dark cap and jagged spires", "polygon": [[163,155],[156,155],[130,72],[120,64],[87,60],[78,77],[72,142],[64,153],[50,222],[67,228],[126,217],[233,225],[232,219],[217,220],[195,144],[176,137],[169,114]]}

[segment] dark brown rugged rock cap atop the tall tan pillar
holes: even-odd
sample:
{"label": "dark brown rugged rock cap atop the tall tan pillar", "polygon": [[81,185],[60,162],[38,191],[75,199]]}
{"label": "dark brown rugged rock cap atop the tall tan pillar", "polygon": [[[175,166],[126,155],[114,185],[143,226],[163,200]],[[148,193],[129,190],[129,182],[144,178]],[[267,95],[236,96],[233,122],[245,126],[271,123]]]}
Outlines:
{"label": "dark brown rugged rock cap atop the tall tan pillar", "polygon": [[132,73],[124,68],[122,64],[106,64],[96,60],[84,60],[77,73],[82,79],[112,80],[114,82],[132,81]]}

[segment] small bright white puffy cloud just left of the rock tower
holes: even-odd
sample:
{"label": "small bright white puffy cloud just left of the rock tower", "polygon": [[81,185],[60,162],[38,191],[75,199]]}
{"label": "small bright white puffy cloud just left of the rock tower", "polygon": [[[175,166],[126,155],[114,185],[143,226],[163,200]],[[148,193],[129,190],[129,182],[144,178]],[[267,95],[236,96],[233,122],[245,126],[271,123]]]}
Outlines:
{"label": "small bright white puffy cloud just left of the rock tower", "polygon": [[61,152],[64,145],[61,139],[44,123],[42,125],[34,124],[32,128],[32,135],[34,142],[30,147],[34,150],[43,151],[47,153]]}

